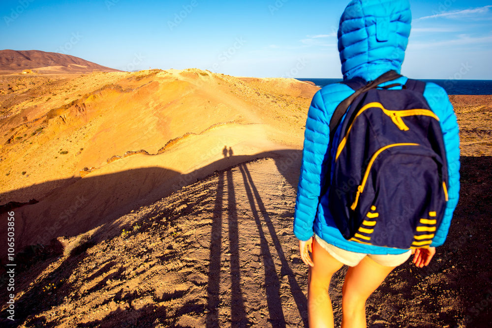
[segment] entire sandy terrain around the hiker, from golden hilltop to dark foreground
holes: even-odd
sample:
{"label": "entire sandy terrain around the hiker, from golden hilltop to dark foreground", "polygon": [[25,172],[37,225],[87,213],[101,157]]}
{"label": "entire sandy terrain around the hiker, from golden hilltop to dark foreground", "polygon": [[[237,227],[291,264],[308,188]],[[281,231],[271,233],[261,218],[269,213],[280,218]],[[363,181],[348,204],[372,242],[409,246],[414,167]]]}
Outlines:
{"label": "entire sandy terrain around the hiker, from golden hilltop to dark foreground", "polygon": [[[16,321],[3,293],[0,326],[307,327],[291,227],[317,89],[199,69],[2,76],[0,206],[14,212],[17,273]],[[369,327],[492,325],[492,98],[450,98],[462,186],[449,238],[429,267],[388,277]]]}

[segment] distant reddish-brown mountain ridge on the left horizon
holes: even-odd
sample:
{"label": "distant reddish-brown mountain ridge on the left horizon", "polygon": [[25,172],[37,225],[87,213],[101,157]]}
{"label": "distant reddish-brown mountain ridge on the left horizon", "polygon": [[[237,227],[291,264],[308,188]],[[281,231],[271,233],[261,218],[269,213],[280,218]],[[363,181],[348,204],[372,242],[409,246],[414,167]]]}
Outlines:
{"label": "distant reddish-brown mountain ridge on the left horizon", "polygon": [[39,73],[121,72],[78,57],[40,50],[0,50],[0,71],[34,69]]}

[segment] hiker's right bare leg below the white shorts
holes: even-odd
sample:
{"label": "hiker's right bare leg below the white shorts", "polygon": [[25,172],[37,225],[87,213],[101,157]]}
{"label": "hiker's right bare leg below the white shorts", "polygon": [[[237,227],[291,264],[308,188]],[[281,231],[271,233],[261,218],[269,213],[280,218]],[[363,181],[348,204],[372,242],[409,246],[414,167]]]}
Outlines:
{"label": "hiker's right bare leg below the white shorts", "polygon": [[384,267],[365,257],[348,268],[342,290],[342,328],[365,328],[366,300],[396,267]]}

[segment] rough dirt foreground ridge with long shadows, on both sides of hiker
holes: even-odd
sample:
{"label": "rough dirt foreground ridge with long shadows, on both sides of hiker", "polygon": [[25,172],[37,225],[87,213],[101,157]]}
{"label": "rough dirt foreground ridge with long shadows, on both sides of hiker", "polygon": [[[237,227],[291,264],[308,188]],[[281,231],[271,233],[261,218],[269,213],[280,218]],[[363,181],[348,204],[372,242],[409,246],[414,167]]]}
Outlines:
{"label": "rough dirt foreground ridge with long shadows, on both sides of hiker", "polygon": [[[299,160],[215,172],[36,250],[16,276],[12,327],[307,327],[307,268],[292,235]],[[491,327],[491,157],[463,157],[461,171],[445,245],[429,267],[408,261],[388,276],[368,300],[368,327]],[[345,271],[330,289],[336,325]]]}

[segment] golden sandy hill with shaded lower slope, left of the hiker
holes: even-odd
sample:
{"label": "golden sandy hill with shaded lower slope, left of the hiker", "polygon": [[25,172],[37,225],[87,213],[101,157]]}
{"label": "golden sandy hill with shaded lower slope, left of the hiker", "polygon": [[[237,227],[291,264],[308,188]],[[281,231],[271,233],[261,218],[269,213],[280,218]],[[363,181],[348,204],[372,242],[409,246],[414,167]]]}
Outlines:
{"label": "golden sandy hill with shaded lower slope, left of the hiker", "polygon": [[39,201],[18,210],[19,247],[78,235],[215,170],[300,149],[318,89],[198,69],[25,79],[0,94],[0,205]]}

